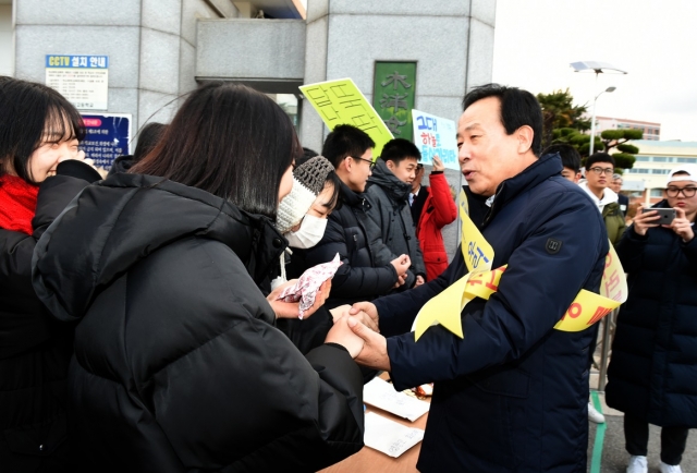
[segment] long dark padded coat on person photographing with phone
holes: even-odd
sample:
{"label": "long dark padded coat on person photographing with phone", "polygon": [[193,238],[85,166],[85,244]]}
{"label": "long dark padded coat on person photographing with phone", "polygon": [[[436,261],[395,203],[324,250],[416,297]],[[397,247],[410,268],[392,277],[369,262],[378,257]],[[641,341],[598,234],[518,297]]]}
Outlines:
{"label": "long dark padded coat on person photographing with phone", "polygon": [[[663,201],[655,207],[667,208]],[[629,275],[608,368],[608,405],[664,427],[697,428],[697,239],[667,228],[617,245]]]}

